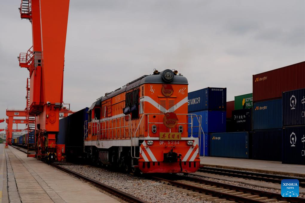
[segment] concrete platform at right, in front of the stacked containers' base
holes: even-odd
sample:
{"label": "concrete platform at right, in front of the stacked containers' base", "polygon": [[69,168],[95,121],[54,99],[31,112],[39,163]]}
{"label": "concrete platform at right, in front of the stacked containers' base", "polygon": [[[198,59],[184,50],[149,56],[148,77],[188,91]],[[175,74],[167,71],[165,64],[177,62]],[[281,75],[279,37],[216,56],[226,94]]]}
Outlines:
{"label": "concrete platform at right, in front of the stacked containers' base", "polygon": [[206,156],[200,159],[200,165],[233,170],[247,170],[258,173],[305,177],[305,165],[282,164],[282,162],[279,161]]}

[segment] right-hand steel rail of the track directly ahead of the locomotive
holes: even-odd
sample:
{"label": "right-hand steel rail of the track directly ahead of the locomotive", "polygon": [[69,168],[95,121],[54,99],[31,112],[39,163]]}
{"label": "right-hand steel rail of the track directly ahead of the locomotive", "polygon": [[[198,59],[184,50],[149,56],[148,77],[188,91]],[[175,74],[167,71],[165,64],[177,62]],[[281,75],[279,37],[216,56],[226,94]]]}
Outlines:
{"label": "right-hand steel rail of the track directly ahead of the locomotive", "polygon": [[[178,180],[189,180],[189,181],[193,181],[193,182],[197,182],[197,183],[201,183],[201,184],[208,184],[208,185],[213,185],[213,186],[217,186],[217,187],[223,187],[225,189],[231,189],[231,190],[235,190],[235,191],[239,191],[239,192],[255,194],[255,195],[259,195],[261,197],[274,198],[274,199],[281,200],[281,201],[289,201],[292,203],[305,202],[305,198],[299,198],[299,197],[285,198],[285,197],[282,197],[281,194],[274,193],[274,192],[261,191],[261,190],[256,190],[256,189],[252,189],[252,188],[247,188],[247,187],[219,183],[219,182],[215,182],[215,181],[211,181],[211,180],[203,180],[203,179],[195,178],[195,177],[173,175],[172,178],[174,178],[176,180],[177,179]],[[250,199],[248,199],[248,201],[249,200]]]}

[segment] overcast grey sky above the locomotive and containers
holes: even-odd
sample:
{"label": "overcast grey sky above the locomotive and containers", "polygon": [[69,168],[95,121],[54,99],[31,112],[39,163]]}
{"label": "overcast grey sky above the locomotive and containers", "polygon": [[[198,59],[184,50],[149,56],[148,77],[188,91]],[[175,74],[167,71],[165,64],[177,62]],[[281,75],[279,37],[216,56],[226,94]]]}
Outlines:
{"label": "overcast grey sky above the locomotive and containers", "polygon": [[[29,73],[17,56],[32,46],[32,33],[20,2],[0,2],[0,117],[26,104]],[[71,0],[63,99],[80,110],[168,68],[187,77],[189,91],[227,87],[230,101],[252,92],[253,74],[304,60],[303,0]]]}

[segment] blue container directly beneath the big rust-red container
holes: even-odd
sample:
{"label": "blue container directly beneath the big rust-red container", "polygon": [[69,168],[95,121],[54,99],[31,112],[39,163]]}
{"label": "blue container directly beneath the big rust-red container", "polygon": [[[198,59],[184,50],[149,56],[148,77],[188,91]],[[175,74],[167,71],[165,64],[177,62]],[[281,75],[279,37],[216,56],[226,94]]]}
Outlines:
{"label": "blue container directly beneath the big rust-red container", "polygon": [[282,99],[254,103],[253,130],[282,128]]}

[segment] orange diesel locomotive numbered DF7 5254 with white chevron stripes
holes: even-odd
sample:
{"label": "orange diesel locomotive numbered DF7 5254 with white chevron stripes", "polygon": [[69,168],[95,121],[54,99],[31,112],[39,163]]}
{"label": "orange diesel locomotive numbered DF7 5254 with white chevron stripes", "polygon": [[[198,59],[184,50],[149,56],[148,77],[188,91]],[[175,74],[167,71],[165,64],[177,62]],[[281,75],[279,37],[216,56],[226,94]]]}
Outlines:
{"label": "orange diesel locomotive numbered DF7 5254 with white chevron stripes", "polygon": [[93,163],[141,173],[199,168],[198,138],[188,137],[188,117],[196,115],[188,114],[188,81],[177,73],[155,70],[91,105],[84,152]]}

